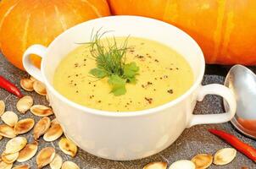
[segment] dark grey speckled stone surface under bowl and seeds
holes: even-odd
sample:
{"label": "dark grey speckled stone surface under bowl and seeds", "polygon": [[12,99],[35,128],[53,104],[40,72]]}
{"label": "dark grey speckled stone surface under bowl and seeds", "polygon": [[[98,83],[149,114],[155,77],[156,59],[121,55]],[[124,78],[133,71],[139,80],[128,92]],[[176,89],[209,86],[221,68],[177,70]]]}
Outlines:
{"label": "dark grey speckled stone surface under bowl and seeds", "polygon": [[[218,70],[219,69],[219,70]],[[215,73],[224,74],[227,68],[222,68],[218,66],[211,66],[207,69],[207,75],[205,75],[203,79],[203,85],[219,83],[223,84],[224,77],[221,75],[214,75]],[[255,68],[254,68],[255,70]],[[214,74],[212,74],[214,73]],[[0,74],[14,82],[19,86],[19,79],[28,76],[25,72],[20,71],[17,68],[14,68],[11,64],[9,64],[5,58],[0,53]],[[35,99],[35,104],[46,104],[47,101],[41,95],[36,95],[35,92],[25,92],[26,95],[32,95]],[[14,95],[8,94],[7,91],[0,89],[0,100],[5,101],[7,107],[6,110],[14,111],[19,115],[19,119],[25,117],[34,117],[31,112],[27,112],[25,115],[20,115],[16,110],[16,102],[17,98]],[[223,112],[222,101],[219,96],[209,95],[207,96],[203,102],[198,103],[194,113],[202,114],[202,113],[220,113]],[[38,117],[34,117],[36,122],[38,121]],[[0,120],[0,123],[3,123]],[[222,140],[218,139],[212,134],[209,134],[208,128],[220,128],[225,131],[230,132],[231,134],[237,135],[238,138],[242,139],[244,142],[248,144],[252,144],[256,147],[256,142],[253,139],[248,139],[247,137],[239,134],[232,126],[231,123],[223,123],[216,125],[198,125],[192,128],[186,129],[180,136],[179,139],[175,141],[174,144],[171,144],[169,148],[163,150],[157,155],[150,156],[148,158],[137,160],[137,161],[109,161],[98,158],[94,155],[90,155],[83,150],[79,150],[78,154],[74,159],[70,158],[68,155],[64,155],[58,148],[58,140],[53,143],[46,143],[42,139],[39,141],[40,149],[47,146],[53,146],[59,155],[61,155],[64,161],[71,160],[75,161],[81,168],[88,169],[142,169],[148,162],[152,161],[166,161],[170,165],[172,162],[188,159],[190,160],[193,155],[197,155],[199,153],[210,153],[214,154],[216,150],[230,147],[230,145],[225,144]],[[31,142],[32,134],[24,135],[29,142]],[[8,139],[2,139],[0,141],[0,153],[3,152],[6,142]],[[36,169],[36,158],[34,157],[30,161],[26,162],[31,166],[32,169]],[[14,163],[14,166],[18,165],[18,162]],[[242,166],[248,166],[248,168],[253,169],[256,168],[256,165],[253,161],[250,161],[246,156],[241,153],[237,153],[237,158],[232,161],[230,164],[226,166],[210,166],[210,169],[219,169],[219,168],[228,168],[228,169],[240,169]],[[48,166],[45,168],[49,168]]]}

